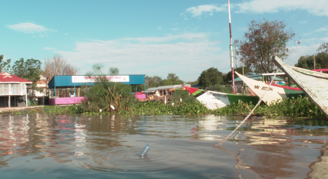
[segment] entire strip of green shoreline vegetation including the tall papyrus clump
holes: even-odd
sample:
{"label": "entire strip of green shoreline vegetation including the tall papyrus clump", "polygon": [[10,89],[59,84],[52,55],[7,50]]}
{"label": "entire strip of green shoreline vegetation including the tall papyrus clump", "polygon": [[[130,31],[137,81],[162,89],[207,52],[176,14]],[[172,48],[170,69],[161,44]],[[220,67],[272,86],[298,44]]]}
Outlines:
{"label": "entire strip of green shoreline vegetation including the tall papyrus clump", "polygon": [[[49,114],[119,114],[121,116],[159,116],[159,115],[203,115],[246,116],[256,104],[239,101],[223,108],[209,110],[204,104],[189,95],[186,90],[175,91],[164,101],[139,101],[131,94],[131,86],[123,83],[99,81],[93,86],[85,86],[87,100],[79,105],[44,106],[24,111],[2,112],[0,114],[19,115],[24,113]],[[297,97],[274,102],[267,106],[262,102],[252,116],[290,116],[305,118],[326,118],[307,98]]]}

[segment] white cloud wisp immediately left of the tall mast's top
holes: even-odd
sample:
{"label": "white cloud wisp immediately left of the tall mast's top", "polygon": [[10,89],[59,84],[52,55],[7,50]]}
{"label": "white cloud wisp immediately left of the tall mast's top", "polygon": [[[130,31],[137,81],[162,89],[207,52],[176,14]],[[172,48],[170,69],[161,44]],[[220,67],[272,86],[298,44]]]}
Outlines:
{"label": "white cloud wisp immediately left of the tall mast's top", "polygon": [[192,13],[193,17],[201,16],[203,13],[213,15],[213,12],[226,11],[225,6],[217,7],[216,5],[208,4],[208,5],[200,5],[197,7],[191,7],[186,9],[187,12]]}

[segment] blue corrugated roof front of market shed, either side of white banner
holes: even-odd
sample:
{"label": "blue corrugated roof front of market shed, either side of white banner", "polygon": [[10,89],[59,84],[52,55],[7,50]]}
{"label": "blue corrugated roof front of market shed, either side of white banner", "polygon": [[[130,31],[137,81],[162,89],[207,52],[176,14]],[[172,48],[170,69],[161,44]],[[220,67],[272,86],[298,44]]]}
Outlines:
{"label": "blue corrugated roof front of market shed, either side of white banner", "polygon": [[[94,83],[73,83],[72,76],[85,76],[85,75],[61,75],[54,76],[51,81],[48,83],[49,88],[61,88],[61,87],[70,87],[70,86],[92,86]],[[121,82],[124,84],[144,84],[145,75],[129,75],[129,82]]]}

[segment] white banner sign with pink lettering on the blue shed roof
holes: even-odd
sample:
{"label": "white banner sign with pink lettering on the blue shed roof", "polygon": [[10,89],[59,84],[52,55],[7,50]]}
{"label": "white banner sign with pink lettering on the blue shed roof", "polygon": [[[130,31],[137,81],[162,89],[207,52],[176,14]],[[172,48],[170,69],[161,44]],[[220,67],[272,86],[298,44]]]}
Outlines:
{"label": "white banner sign with pink lettering on the blue shed roof", "polygon": [[129,82],[129,75],[110,75],[110,76],[72,76],[73,83],[96,82],[97,79],[106,79],[112,82]]}

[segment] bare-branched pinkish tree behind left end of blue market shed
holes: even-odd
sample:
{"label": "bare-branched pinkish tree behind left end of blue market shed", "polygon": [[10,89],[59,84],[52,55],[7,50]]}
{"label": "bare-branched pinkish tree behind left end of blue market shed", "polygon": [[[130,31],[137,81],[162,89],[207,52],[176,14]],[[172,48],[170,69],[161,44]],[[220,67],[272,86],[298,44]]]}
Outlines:
{"label": "bare-branched pinkish tree behind left end of blue market shed", "polygon": [[67,62],[60,54],[54,54],[52,58],[45,59],[43,75],[51,79],[55,75],[76,75],[79,69]]}

